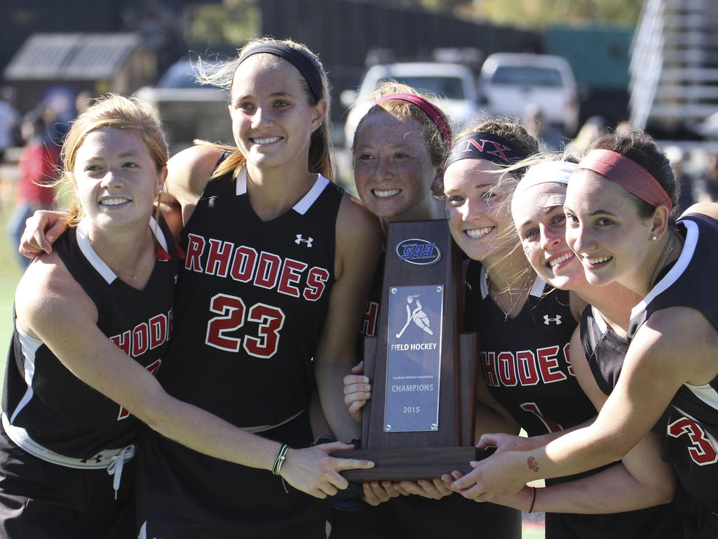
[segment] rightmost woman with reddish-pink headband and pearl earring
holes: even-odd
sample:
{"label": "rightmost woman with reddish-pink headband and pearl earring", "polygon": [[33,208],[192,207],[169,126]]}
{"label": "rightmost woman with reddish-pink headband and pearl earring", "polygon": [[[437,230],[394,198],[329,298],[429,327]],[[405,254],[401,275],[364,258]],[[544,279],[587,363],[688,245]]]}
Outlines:
{"label": "rightmost woman with reddish-pink headband and pearl earring", "polygon": [[[718,221],[671,211],[668,160],[643,132],[599,139],[567,190],[567,241],[596,286],[618,282],[643,298],[628,352],[597,419],[541,448],[505,451],[477,466],[477,497],[521,489],[623,458],[653,429],[679,478],[674,503],[688,538],[718,534]],[[462,488],[462,480],[454,487]]]}

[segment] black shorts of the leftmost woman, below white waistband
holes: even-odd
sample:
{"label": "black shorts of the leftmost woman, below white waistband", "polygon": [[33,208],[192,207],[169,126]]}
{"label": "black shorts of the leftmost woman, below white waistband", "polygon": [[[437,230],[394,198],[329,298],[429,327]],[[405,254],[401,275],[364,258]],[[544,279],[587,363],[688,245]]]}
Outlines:
{"label": "black shorts of the leftmost woman, below white waistband", "polygon": [[126,461],[115,499],[106,469],[37,459],[0,426],[0,538],[134,538],[135,473],[134,459]]}

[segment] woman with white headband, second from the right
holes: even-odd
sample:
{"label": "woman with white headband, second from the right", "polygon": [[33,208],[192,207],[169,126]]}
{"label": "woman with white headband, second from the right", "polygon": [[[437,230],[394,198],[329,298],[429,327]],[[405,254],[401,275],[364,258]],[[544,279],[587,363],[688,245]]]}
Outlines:
{"label": "woman with white headband, second from the right", "polygon": [[[581,263],[565,241],[563,206],[569,178],[576,167],[577,163],[558,157],[541,157],[528,167],[513,194],[511,206],[523,252],[537,274],[554,287],[574,290],[590,304],[584,310],[580,326],[583,342],[578,329],[572,338],[571,364],[582,390],[600,410],[620,374],[623,355],[628,349],[625,334],[630,308],[640,298],[617,282],[604,287],[589,285]],[[534,447],[543,446],[559,434],[529,441],[488,435],[479,445],[498,446],[498,451],[508,451],[520,444],[526,449],[529,443]],[[676,513],[665,505],[673,497],[675,479],[670,466],[661,461],[660,439],[656,434],[649,433],[620,464],[587,479],[554,479],[546,484],[548,488],[538,491],[536,487],[525,487],[516,497],[503,502],[523,510],[528,507],[545,511],[547,521],[568,520],[580,537],[614,529],[632,537],[681,535]],[[470,496],[472,487],[465,487],[463,492]],[[651,508],[637,510],[643,507]],[[555,515],[556,512],[569,514]],[[621,513],[607,515],[607,512]]]}

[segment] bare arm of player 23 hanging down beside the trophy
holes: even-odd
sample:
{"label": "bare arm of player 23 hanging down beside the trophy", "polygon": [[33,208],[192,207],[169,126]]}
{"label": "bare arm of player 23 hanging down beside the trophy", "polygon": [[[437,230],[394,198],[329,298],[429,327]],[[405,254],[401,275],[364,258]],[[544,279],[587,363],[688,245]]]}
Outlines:
{"label": "bare arm of player 23 hanging down beside the trophy", "polygon": [[343,404],[345,374],[357,364],[356,339],[381,252],[378,219],[344,195],[336,223],[335,283],[327,322],[314,356],[322,409],[337,440],[358,438],[358,424]]}

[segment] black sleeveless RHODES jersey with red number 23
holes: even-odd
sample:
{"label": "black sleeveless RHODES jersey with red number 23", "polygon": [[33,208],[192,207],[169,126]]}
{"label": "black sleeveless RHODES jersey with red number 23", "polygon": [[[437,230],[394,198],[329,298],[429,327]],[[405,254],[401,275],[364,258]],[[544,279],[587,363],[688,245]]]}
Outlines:
{"label": "black sleeveless RHODES jersey with red number 23", "polygon": [[180,400],[252,428],[308,405],[343,190],[318,176],[293,208],[262,221],[246,185],[246,169],[210,180],[182,231],[175,338],[160,381]]}

